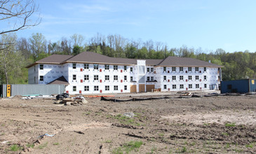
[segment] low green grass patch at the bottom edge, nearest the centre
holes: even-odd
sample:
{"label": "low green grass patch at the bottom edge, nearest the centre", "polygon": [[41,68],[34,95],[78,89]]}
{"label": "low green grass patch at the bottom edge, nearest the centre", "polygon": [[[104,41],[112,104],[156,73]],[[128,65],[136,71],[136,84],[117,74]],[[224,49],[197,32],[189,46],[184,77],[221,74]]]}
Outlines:
{"label": "low green grass patch at the bottom edge, nearest the centre", "polygon": [[121,154],[123,152],[130,153],[130,151],[138,151],[140,146],[142,146],[142,141],[130,141],[119,148],[115,148],[112,151],[113,154]]}

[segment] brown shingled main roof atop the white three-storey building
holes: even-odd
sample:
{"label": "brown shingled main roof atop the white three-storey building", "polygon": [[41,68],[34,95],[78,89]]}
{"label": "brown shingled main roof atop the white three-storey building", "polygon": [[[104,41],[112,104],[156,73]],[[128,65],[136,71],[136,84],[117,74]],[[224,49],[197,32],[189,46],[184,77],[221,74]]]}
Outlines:
{"label": "brown shingled main roof atop the white three-storey building", "polygon": [[[166,59],[144,59],[147,65],[151,66],[215,66],[222,67],[217,64],[204,62],[202,60],[187,58],[187,57],[172,57]],[[65,62],[84,62],[96,64],[137,64],[137,59],[116,58],[101,55],[96,52],[81,52],[79,55],[50,55],[49,57],[40,59],[27,66],[35,64],[63,64]]]}

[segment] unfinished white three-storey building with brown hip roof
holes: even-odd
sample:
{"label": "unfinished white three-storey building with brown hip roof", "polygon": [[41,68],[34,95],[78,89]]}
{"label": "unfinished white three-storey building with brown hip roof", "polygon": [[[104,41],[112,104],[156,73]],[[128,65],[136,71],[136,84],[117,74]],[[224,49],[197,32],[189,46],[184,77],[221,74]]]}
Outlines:
{"label": "unfinished white three-storey building with brown hip roof", "polygon": [[29,84],[65,84],[69,94],[214,90],[221,67],[185,57],[127,59],[95,52],[51,55],[27,66]]}

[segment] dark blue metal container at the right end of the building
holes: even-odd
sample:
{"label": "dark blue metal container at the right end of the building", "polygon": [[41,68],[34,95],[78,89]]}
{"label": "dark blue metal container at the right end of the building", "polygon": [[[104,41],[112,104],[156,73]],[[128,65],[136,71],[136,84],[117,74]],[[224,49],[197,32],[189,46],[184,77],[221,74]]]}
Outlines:
{"label": "dark blue metal container at the right end of the building", "polygon": [[222,94],[256,92],[256,79],[224,80],[220,82],[220,87]]}

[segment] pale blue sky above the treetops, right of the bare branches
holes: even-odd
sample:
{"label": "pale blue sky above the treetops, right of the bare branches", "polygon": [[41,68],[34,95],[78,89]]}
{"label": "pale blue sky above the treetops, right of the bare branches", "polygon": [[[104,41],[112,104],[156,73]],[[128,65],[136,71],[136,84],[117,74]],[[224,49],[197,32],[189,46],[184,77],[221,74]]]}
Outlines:
{"label": "pale blue sky above the treetops, right of the bare branches", "polygon": [[[161,41],[169,48],[256,51],[255,0],[37,0],[42,22],[18,31],[47,40],[81,34],[120,34],[129,39]],[[0,25],[0,29],[3,28]]]}

